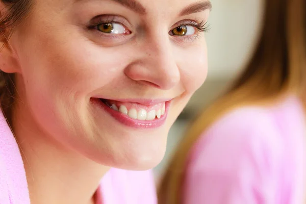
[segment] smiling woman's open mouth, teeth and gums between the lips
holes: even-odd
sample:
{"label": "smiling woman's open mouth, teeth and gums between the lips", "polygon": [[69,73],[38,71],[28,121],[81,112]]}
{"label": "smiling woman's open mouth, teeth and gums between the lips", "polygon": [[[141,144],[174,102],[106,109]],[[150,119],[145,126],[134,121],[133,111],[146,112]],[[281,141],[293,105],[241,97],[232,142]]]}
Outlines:
{"label": "smiling woman's open mouth, teeth and gums between the lips", "polygon": [[158,120],[161,119],[166,112],[166,101],[154,105],[145,105],[140,103],[121,102],[103,98],[99,98],[99,100],[113,111],[119,112],[134,120]]}

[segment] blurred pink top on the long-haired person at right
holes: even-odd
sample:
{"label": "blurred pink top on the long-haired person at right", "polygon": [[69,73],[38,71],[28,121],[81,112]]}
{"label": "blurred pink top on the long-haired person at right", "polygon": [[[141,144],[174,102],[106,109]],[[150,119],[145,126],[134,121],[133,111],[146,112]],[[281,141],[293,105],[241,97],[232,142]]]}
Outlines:
{"label": "blurred pink top on the long-haired person at right", "polygon": [[184,204],[304,203],[305,137],[296,97],[227,113],[191,151]]}

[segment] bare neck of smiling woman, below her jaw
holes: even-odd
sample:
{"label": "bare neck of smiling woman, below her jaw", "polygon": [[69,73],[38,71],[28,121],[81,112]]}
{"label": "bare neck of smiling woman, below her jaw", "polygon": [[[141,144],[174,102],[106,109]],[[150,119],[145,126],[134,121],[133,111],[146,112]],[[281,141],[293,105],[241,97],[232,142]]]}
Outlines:
{"label": "bare neck of smiling woman, below her jaw", "polygon": [[26,110],[16,107],[13,131],[19,143],[31,203],[94,203],[94,194],[109,167],[43,134]]}

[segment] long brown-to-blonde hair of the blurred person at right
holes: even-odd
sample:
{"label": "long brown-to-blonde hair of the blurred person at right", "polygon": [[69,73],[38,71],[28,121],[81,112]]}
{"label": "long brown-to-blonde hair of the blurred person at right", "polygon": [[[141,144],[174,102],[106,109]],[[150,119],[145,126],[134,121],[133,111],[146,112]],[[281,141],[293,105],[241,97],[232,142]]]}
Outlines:
{"label": "long brown-to-blonde hair of the blurred person at right", "polygon": [[304,28],[304,0],[266,1],[261,38],[249,65],[233,87],[202,112],[187,131],[160,183],[159,204],[182,203],[188,152],[199,136],[223,114],[244,105],[271,106],[289,94],[297,95],[306,106]]}

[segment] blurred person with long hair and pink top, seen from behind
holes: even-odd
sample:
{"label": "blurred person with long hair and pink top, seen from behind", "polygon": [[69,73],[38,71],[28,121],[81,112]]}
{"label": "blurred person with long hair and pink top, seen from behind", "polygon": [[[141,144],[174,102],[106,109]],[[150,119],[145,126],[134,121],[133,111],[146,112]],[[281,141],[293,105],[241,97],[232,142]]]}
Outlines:
{"label": "blurred person with long hair and pink top, seen from behind", "polygon": [[268,0],[265,7],[252,60],[191,126],[160,203],[304,203],[306,4]]}

